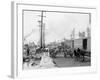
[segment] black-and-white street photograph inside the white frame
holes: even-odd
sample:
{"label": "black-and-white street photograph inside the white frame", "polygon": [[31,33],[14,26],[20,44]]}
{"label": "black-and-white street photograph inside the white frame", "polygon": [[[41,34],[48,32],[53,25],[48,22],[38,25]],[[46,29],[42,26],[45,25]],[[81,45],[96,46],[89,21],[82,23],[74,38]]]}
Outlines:
{"label": "black-and-white street photograph inside the white frame", "polygon": [[22,11],[22,68],[91,66],[91,13]]}

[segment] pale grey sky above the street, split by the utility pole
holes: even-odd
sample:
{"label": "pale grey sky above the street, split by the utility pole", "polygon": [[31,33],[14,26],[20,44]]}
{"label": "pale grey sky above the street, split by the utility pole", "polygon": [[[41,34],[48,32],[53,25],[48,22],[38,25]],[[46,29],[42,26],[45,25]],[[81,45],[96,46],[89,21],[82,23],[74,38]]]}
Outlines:
{"label": "pale grey sky above the street, split by the utility pole", "polygon": [[[79,13],[59,13],[44,12],[43,22],[45,23],[45,42],[46,44],[62,39],[70,39],[72,30],[75,29],[75,37],[78,37],[79,31],[85,31],[89,27],[89,15]],[[39,43],[39,20],[41,12],[24,11],[24,37],[26,42]]]}

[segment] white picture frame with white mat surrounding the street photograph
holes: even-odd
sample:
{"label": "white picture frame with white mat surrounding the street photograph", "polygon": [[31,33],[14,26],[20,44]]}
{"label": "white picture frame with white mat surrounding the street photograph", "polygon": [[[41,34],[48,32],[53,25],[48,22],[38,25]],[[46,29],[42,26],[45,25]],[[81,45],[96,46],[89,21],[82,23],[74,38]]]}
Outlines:
{"label": "white picture frame with white mat surrounding the street photograph", "polygon": [[59,6],[59,5],[40,5],[22,2],[11,3],[11,28],[12,28],[12,53],[11,53],[11,76],[13,78],[21,77],[40,77],[54,76],[63,74],[75,73],[91,73],[96,71],[97,61],[96,53],[91,38],[91,66],[85,67],[68,67],[68,68],[53,68],[53,69],[36,69],[23,70],[23,10],[41,10],[41,11],[56,11],[56,12],[72,12],[72,13],[89,13],[91,14],[91,35],[93,35],[93,27],[96,26],[96,8],[74,7],[74,6]]}

